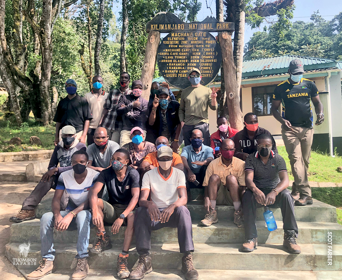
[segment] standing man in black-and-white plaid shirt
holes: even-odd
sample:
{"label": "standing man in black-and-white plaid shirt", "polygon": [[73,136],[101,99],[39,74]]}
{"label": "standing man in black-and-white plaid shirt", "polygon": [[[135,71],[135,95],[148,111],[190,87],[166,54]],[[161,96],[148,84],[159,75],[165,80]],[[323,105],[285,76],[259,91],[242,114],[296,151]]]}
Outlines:
{"label": "standing man in black-and-white plaid shirt", "polygon": [[103,105],[102,116],[99,122],[108,130],[109,139],[120,144],[120,131],[122,130],[122,117],[117,115],[116,109],[121,96],[131,94],[129,81],[131,77],[127,72],[120,74],[120,87],[109,92]]}

